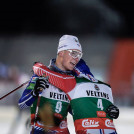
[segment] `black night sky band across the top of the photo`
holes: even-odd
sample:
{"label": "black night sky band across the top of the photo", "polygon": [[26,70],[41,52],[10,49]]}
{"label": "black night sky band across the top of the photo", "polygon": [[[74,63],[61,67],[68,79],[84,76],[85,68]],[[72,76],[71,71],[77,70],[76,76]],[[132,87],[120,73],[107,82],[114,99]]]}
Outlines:
{"label": "black night sky band across the top of the photo", "polygon": [[4,1],[0,3],[0,34],[66,32],[133,37],[133,5],[130,0]]}

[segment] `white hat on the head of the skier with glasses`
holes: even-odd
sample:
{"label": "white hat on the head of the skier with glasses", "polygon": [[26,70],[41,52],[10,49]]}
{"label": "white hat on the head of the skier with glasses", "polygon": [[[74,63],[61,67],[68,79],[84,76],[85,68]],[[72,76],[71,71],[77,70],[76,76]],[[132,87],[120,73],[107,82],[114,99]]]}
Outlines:
{"label": "white hat on the head of the skier with glasses", "polygon": [[63,35],[59,40],[57,54],[60,51],[68,50],[68,49],[76,49],[82,52],[81,44],[76,36],[72,35]]}

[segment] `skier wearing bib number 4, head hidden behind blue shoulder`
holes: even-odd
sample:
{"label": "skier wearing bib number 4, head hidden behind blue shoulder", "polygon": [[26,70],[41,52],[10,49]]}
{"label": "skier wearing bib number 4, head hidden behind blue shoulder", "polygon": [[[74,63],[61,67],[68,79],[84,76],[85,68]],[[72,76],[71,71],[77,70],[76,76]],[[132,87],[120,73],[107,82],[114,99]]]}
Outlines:
{"label": "skier wearing bib number 4, head hidden behind blue shoulder", "polygon": [[66,92],[76,134],[117,134],[113,119],[118,118],[119,109],[113,105],[111,87],[93,78],[83,62],[75,67],[78,74],[75,88]]}

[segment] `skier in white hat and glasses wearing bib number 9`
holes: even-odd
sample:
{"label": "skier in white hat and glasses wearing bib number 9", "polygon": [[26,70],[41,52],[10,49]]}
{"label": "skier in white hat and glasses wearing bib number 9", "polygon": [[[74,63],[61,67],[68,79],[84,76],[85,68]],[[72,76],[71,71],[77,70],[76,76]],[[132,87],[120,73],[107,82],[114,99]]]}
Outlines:
{"label": "skier in white hat and glasses wearing bib number 9", "polygon": [[[82,57],[78,38],[64,35],[59,40],[57,58],[50,62],[49,69],[67,75],[75,75],[74,67]],[[43,89],[43,90],[42,90]],[[39,112],[35,119],[37,98],[41,94]],[[20,100],[20,108],[31,107],[31,134],[59,133],[69,134],[67,113],[69,111],[67,95],[48,83],[45,77],[33,75]]]}

